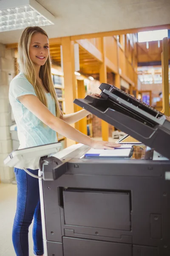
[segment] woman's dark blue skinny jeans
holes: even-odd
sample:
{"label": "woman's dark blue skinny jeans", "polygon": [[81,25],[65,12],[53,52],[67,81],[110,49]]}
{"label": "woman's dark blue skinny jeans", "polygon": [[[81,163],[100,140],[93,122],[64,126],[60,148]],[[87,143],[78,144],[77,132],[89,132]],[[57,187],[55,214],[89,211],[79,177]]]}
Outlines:
{"label": "woman's dark blue skinny jeans", "polygon": [[[38,170],[30,170],[38,175]],[[17,180],[17,210],[12,230],[12,241],[17,256],[28,256],[28,228],[34,217],[32,237],[34,254],[43,255],[40,192],[38,179],[24,170],[14,168]]]}

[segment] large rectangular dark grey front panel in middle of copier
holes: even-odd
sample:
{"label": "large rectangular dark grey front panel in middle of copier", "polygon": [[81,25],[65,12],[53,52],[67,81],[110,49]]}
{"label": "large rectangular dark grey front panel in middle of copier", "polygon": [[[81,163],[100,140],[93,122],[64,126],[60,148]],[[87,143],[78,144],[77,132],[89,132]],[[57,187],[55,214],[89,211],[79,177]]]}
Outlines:
{"label": "large rectangular dark grey front panel in middle of copier", "polygon": [[66,225],[130,230],[130,193],[66,190]]}

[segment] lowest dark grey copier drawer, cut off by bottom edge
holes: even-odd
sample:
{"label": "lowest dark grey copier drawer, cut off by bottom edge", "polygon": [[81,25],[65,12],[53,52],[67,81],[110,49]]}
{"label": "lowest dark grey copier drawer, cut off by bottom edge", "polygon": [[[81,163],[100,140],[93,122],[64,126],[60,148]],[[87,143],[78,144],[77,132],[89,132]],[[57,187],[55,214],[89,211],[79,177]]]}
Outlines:
{"label": "lowest dark grey copier drawer, cut off by bottom edge", "polygon": [[132,256],[132,245],[63,237],[64,256]]}

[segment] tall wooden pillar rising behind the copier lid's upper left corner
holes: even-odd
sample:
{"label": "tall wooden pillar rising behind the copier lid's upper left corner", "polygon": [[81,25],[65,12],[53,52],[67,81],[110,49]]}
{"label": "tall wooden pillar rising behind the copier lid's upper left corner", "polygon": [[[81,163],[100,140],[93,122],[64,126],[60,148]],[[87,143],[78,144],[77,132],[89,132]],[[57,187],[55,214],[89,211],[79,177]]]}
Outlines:
{"label": "tall wooden pillar rising behind the copier lid's upper left corner", "polygon": [[[102,54],[103,54],[103,62],[100,67],[100,82],[101,83],[107,83],[107,68],[105,63],[105,38],[101,38],[101,44],[102,44]],[[108,141],[109,139],[109,125],[107,122],[102,120],[102,140]]]}

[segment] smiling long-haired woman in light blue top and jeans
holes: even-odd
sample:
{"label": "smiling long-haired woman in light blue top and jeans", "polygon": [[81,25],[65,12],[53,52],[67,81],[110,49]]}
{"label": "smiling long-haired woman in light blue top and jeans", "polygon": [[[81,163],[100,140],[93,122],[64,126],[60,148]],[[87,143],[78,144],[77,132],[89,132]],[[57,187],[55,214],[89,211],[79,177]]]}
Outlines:
{"label": "smiling long-haired woman in light blue top and jeans", "polygon": [[[18,44],[20,73],[11,81],[9,100],[17,124],[20,148],[57,142],[56,132],[92,148],[112,149],[116,143],[95,141],[74,129],[71,123],[88,111],[63,115],[51,79],[49,42],[40,27],[28,27]],[[29,170],[38,174],[38,170]],[[28,228],[34,217],[34,254],[43,255],[38,180],[14,169],[17,180],[17,210],[12,240],[17,256],[28,256]]]}

